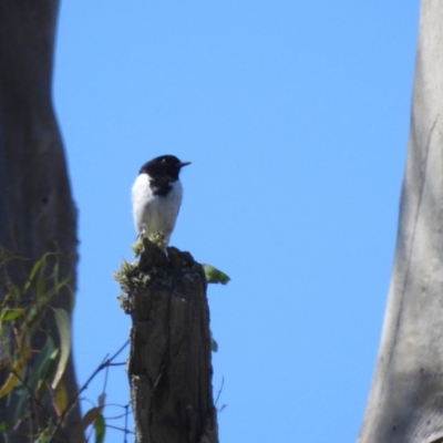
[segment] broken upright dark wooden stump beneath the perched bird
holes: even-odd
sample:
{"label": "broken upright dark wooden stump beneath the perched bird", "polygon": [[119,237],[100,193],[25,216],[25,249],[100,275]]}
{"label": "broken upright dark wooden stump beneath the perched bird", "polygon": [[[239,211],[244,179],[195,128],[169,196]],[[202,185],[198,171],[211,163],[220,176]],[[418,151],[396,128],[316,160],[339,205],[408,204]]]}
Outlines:
{"label": "broken upright dark wooden stump beneath the perched bird", "polygon": [[137,443],[217,443],[203,268],[145,243],[133,277],[128,375]]}

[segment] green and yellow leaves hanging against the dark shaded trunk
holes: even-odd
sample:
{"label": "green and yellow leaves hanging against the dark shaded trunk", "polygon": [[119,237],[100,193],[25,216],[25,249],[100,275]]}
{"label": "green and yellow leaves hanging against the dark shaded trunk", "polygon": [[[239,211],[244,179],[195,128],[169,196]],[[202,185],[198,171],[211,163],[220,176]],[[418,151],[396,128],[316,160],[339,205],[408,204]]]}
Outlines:
{"label": "green and yellow leaves hanging against the dark shaded trunk", "polygon": [[[0,303],[0,347],[3,351],[0,369],[9,372],[0,387],[0,398],[19,396],[13,421],[0,424],[3,429],[10,429],[23,418],[32,416],[35,411],[31,408],[43,408],[47,399],[52,399],[56,414],[62,414],[60,392],[65,389],[60,380],[71,352],[71,324],[69,313],[52,308],[50,301],[62,289],[68,288],[71,295],[72,291],[70,276],[59,276],[56,254],[48,253],[37,260],[22,287],[9,278],[7,264],[23,259],[6,249],[0,249],[0,284],[3,288]],[[51,337],[48,332],[50,328],[45,328],[51,318],[56,324],[55,337]],[[33,349],[37,337],[42,346]],[[33,401],[30,402],[30,399]],[[35,435],[37,441],[44,441],[45,436],[50,439],[61,424],[51,423],[51,433],[48,433],[48,429],[41,430]]]}

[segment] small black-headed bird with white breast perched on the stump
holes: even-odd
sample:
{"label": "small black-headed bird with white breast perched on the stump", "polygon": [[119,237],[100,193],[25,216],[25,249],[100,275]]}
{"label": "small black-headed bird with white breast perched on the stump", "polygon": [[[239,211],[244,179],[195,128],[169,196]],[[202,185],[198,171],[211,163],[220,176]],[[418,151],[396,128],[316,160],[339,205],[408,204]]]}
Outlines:
{"label": "small black-headed bird with white breast perched on the stump", "polygon": [[178,178],[183,166],[174,155],[162,155],[145,163],[132,187],[135,229],[138,235],[162,233],[169,243],[182,204],[183,187]]}

